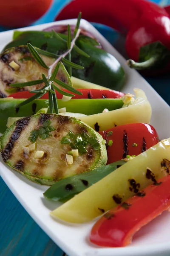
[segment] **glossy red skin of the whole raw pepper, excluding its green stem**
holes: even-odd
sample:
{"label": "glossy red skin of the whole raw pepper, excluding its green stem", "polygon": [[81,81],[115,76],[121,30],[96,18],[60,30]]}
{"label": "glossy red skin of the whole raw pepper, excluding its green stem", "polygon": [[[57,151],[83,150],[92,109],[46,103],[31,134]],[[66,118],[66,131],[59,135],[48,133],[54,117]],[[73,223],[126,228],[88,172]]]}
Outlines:
{"label": "glossy red skin of the whole raw pepper, excluding its green stem", "polygon": [[[75,18],[79,12],[86,20],[111,26],[127,33],[125,48],[129,58],[139,61],[140,48],[160,41],[170,49],[170,9],[147,0],[74,0],[57,15],[56,20]],[[170,64],[159,70],[169,70]],[[156,71],[150,71],[157,75]]]}

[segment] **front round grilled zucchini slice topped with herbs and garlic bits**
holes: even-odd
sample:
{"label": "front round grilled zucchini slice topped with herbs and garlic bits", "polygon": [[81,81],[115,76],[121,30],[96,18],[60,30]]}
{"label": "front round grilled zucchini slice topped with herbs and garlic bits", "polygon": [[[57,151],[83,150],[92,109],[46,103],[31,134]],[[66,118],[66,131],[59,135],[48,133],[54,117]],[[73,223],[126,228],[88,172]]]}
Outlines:
{"label": "front round grilled zucchini slice topped with herbs and garlic bits", "polygon": [[[105,141],[79,119],[36,114],[17,120],[0,138],[1,156],[11,168],[45,185],[107,163]],[[78,149],[78,156],[71,155]]]}

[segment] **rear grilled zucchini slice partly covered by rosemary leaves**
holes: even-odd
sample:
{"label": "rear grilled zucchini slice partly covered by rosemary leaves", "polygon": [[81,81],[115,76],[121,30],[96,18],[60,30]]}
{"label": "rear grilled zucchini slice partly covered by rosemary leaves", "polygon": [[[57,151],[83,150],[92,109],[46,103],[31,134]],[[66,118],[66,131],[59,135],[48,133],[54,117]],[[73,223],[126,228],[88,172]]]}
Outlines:
{"label": "rear grilled zucchini slice partly covered by rosemary leaves", "polygon": [[[42,54],[40,56],[47,66],[50,66],[55,61],[55,58]],[[47,75],[47,72],[47,69],[35,61],[27,46],[7,49],[0,54],[0,98],[6,98],[11,93],[23,90],[42,88],[44,86],[43,83],[22,88],[11,87],[9,84],[42,79],[42,73]],[[71,78],[62,63],[56,78],[72,86]],[[56,83],[54,82],[54,84]]]}

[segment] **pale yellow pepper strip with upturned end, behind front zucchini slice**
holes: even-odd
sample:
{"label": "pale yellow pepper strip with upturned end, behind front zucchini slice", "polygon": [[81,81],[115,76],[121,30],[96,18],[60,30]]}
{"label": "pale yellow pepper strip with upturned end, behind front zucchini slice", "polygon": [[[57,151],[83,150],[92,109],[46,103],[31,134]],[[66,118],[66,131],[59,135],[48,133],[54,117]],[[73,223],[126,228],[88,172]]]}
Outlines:
{"label": "pale yellow pepper strip with upturned end, behind front zucchini slice", "polygon": [[[152,109],[145,93],[141,89],[134,89],[136,99],[131,105],[125,104],[122,108],[91,116],[80,116],[79,119],[98,131],[104,131],[115,125],[129,123],[150,123]],[[125,99],[125,103],[126,103]],[[127,107],[125,107],[127,106]]]}

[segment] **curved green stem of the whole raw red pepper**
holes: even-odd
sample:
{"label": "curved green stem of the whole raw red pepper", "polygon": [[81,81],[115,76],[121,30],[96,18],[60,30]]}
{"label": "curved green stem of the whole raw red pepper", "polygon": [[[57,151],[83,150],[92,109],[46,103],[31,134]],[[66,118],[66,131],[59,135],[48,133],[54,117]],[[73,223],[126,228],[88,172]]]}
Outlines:
{"label": "curved green stem of the whole raw red pepper", "polygon": [[135,62],[131,59],[127,60],[126,64],[130,68],[135,68],[136,70],[145,70],[154,67],[160,61],[160,55],[153,55],[147,61]]}

